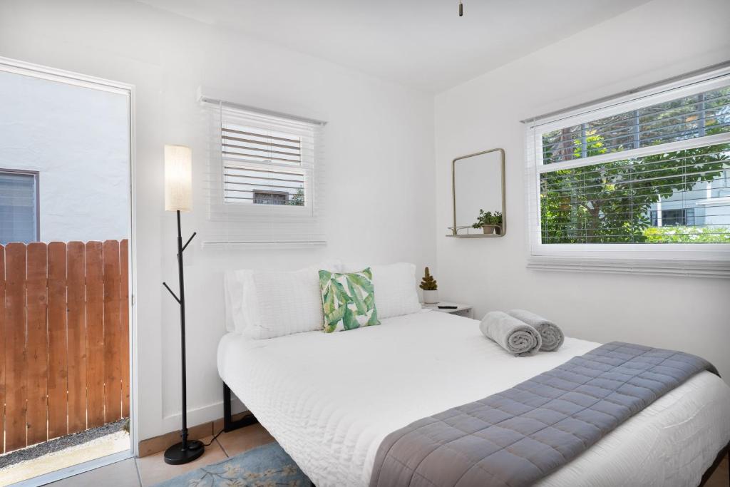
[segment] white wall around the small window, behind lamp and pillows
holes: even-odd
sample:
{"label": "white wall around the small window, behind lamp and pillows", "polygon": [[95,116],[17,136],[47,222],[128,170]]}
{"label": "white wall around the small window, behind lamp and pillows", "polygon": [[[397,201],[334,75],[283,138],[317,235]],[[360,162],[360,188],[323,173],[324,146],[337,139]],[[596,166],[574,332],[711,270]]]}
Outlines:
{"label": "white wall around the small window, behind lamp and pillows", "polygon": [[[243,104],[328,120],[326,248],[188,248],[190,424],[220,418],[215,364],[223,335],[223,269],[296,269],[328,257],[434,266],[433,100],[351,69],[215,26],[123,1],[3,1],[0,55],[136,85],[137,353],[141,438],[180,425],[174,215],[163,211],[163,145],[193,149],[193,212],[207,229],[201,178],[205,117],[200,85]],[[299,358],[307,360],[307,350]]]}

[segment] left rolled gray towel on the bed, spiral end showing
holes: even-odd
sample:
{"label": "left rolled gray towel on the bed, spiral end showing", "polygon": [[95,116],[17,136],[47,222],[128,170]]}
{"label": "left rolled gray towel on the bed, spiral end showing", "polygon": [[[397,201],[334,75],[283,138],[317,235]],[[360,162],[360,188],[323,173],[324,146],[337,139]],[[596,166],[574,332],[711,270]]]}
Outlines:
{"label": "left rolled gray towel on the bed, spiral end showing", "polygon": [[516,356],[531,355],[542,345],[536,329],[502,311],[488,312],[479,329],[485,337]]}

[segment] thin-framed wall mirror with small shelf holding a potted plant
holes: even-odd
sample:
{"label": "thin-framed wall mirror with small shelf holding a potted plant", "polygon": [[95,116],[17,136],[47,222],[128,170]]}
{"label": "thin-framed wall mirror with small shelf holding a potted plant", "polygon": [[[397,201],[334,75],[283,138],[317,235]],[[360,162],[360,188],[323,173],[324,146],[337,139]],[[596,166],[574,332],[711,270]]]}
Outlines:
{"label": "thin-framed wall mirror with small shelf holding a potted plant", "polygon": [[504,237],[504,149],[457,157],[451,165],[453,226],[447,237]]}

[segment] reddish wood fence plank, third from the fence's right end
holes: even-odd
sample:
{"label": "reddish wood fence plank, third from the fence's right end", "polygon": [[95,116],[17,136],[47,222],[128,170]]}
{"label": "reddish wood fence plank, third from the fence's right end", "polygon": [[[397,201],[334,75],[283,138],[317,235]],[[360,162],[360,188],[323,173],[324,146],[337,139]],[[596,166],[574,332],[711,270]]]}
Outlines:
{"label": "reddish wood fence plank, third from the fence's right end", "polygon": [[87,427],[104,424],[104,258],[101,242],[86,242]]}

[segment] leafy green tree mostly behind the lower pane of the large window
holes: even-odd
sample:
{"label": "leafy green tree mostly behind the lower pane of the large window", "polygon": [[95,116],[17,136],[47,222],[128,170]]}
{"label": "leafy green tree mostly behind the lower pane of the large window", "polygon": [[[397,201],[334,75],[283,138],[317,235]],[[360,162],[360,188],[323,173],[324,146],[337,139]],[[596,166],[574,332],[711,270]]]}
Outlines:
{"label": "leafy green tree mostly behind the lower pane of the large window", "polygon": [[[607,152],[595,131],[585,141],[585,147],[580,139],[573,141],[574,156],[583,150],[584,157]],[[648,242],[651,205],[720,176],[728,153],[730,144],[719,144],[545,173],[542,242]]]}

